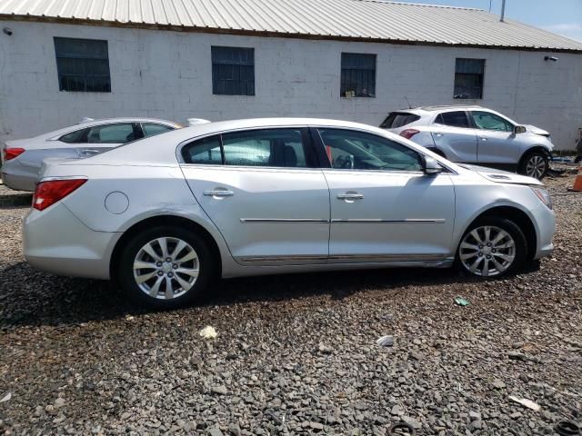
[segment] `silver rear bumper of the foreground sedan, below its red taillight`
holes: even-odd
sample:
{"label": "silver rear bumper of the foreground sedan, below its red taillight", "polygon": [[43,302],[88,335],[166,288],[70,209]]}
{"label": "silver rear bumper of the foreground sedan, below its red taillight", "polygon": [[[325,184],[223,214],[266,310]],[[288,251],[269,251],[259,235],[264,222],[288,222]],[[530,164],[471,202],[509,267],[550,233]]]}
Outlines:
{"label": "silver rear bumper of the foreground sedan, below its red taillight", "polygon": [[122,233],[95,232],[63,203],[31,209],[23,223],[26,262],[58,275],[109,279],[109,263]]}

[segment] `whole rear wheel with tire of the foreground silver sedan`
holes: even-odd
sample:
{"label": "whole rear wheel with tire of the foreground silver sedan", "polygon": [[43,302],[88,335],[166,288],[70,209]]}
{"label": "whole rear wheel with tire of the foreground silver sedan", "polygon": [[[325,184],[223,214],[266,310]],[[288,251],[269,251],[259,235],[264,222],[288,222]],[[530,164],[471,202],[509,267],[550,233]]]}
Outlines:
{"label": "whole rear wheel with tire of the foreground silver sedan", "polygon": [[158,226],[125,245],[117,277],[135,302],[171,309],[205,292],[215,271],[212,254],[196,233]]}

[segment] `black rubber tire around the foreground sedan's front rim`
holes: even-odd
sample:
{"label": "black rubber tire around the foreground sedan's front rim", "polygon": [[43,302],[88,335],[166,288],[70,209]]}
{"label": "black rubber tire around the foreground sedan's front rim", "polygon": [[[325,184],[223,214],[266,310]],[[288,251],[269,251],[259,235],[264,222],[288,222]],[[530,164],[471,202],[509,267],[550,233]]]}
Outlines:
{"label": "black rubber tire around the foreground sedan's front rim", "polygon": [[[478,272],[469,271],[467,263],[473,263],[474,261],[477,261],[477,256],[467,259],[467,262],[465,262],[465,263],[461,260],[462,255],[467,255],[467,253],[469,253],[469,254],[472,253],[470,249],[466,250],[465,248],[462,248],[463,243],[466,242],[467,235],[469,235],[469,233],[473,232],[476,229],[483,229],[484,227],[494,227],[494,228],[501,229],[501,230],[505,231],[506,233],[509,234],[509,236],[513,239],[513,241],[515,243],[515,251],[513,252],[514,259],[513,259],[512,263],[510,263],[507,266],[507,269],[505,271],[502,271],[502,272],[487,274],[487,276],[483,275],[481,273],[478,273]],[[477,231],[477,233],[479,233],[479,231]],[[480,233],[480,235],[483,235],[483,234],[484,233]],[[468,236],[468,238],[472,238],[472,236]],[[508,241],[508,240],[505,240],[505,241]],[[502,239],[500,241],[499,245],[503,245],[503,242],[504,242],[504,240]],[[477,246],[480,247],[481,245],[477,244]],[[500,261],[499,263],[506,262],[505,260],[500,260],[500,258],[497,257],[497,256],[502,255],[502,254],[505,255],[506,253],[499,252],[498,254],[494,254],[494,253],[487,254],[486,250],[487,249],[484,249],[483,252],[481,252],[481,250],[479,250],[478,253],[483,253],[483,254],[479,255],[479,257],[482,257],[485,260],[487,255],[489,256],[489,258],[492,258],[495,256],[495,259],[497,261]],[[497,216],[484,216],[482,218],[477,219],[477,221],[475,221],[474,223],[471,223],[471,225],[467,228],[467,231],[463,234],[463,237],[461,238],[461,242],[457,246],[457,253],[456,253],[457,268],[459,268],[460,271],[466,272],[467,274],[470,274],[472,276],[477,276],[480,278],[496,278],[497,279],[498,277],[512,275],[512,274],[518,272],[521,268],[523,268],[523,266],[527,260],[527,250],[528,250],[528,247],[527,247],[526,236],[521,231],[519,226],[517,226],[516,223],[514,223],[513,221],[511,221],[507,218],[501,218],[501,217],[497,217]],[[487,259],[489,259],[489,258],[487,258]],[[491,263],[493,263],[493,261],[489,262],[489,264],[491,264]],[[495,265],[494,265],[494,267],[495,267]],[[496,271],[497,271],[497,268],[496,268]]]}

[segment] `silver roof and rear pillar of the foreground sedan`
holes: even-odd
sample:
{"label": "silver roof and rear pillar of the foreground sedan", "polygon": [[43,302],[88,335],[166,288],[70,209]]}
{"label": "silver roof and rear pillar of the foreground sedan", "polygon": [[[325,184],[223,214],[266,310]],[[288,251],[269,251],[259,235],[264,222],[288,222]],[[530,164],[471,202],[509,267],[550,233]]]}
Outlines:
{"label": "silver roof and rear pillar of the foreground sedan", "polygon": [[[176,164],[176,146],[196,138],[220,134],[234,130],[275,128],[293,126],[337,127],[364,130],[374,134],[386,135],[386,131],[372,125],[352,123],[341,120],[320,118],[254,118],[244,120],[220,121],[216,123],[196,124],[177,129],[166,134],[140,139],[125,144],[104,154],[98,154],[83,160],[86,164]],[[169,148],[164,144],[170,144]],[[169,153],[168,153],[169,152]]]}

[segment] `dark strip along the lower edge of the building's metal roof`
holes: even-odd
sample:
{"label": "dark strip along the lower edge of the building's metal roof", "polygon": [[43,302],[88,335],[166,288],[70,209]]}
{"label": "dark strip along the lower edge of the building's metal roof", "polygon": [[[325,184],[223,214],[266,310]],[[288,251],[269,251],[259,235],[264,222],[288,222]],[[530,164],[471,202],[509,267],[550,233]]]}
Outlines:
{"label": "dark strip along the lower edge of the building's metal roof", "polygon": [[[15,14],[0,14],[0,20],[7,21],[26,21],[36,23],[57,23],[61,25],[95,25],[103,27],[125,27],[132,29],[145,30],[165,30],[172,32],[191,32],[198,34],[220,34],[220,35],[244,35],[244,36],[262,36],[262,37],[276,37],[276,38],[293,38],[306,40],[327,40],[327,41],[351,41],[358,43],[379,43],[379,44],[393,44],[393,45],[433,45],[441,47],[467,47],[467,48],[482,48],[482,49],[496,49],[496,50],[518,50],[525,52],[553,52],[553,53],[573,53],[582,54],[582,49],[574,48],[560,48],[549,46],[531,46],[531,45],[480,45],[480,44],[462,44],[462,43],[446,43],[440,41],[420,41],[420,40],[400,40],[389,38],[373,38],[373,37],[358,37],[358,36],[342,36],[342,35],[319,35],[319,34],[302,34],[302,33],[286,33],[275,31],[258,31],[246,29],[226,29],[221,27],[200,27],[200,26],[184,26],[184,25],[161,25],[161,24],[146,24],[134,22],[121,21],[106,21],[106,20],[90,20],[80,18],[63,18],[50,17],[45,15],[15,15]],[[576,43],[576,41],[573,41]]]}

